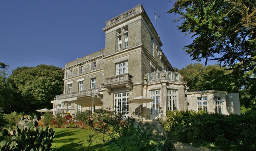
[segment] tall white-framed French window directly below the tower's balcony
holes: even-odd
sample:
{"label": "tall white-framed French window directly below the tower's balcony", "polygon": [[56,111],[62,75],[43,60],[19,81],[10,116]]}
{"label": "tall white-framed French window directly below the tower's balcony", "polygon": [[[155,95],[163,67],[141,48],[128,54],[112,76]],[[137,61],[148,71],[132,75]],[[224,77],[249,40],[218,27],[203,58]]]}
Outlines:
{"label": "tall white-framed French window directly below the tower's balcony", "polygon": [[115,111],[127,114],[129,111],[129,92],[115,94],[114,100]]}

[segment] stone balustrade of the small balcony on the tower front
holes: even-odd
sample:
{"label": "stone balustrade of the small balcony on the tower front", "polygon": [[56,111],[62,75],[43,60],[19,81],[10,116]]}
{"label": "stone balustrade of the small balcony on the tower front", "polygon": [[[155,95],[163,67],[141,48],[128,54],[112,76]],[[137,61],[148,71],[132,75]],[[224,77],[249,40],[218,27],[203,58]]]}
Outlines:
{"label": "stone balustrade of the small balcony on the tower front", "polygon": [[127,73],[127,74],[105,78],[104,84],[113,84],[113,83],[118,83],[123,81],[132,81],[132,79],[133,79],[133,76]]}

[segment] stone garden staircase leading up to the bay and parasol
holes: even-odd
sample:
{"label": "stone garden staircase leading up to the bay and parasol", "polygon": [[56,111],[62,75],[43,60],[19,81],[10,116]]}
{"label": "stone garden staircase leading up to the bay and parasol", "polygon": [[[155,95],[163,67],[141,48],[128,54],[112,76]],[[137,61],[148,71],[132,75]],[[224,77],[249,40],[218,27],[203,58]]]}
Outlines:
{"label": "stone garden staircase leading up to the bay and parasol", "polygon": [[146,121],[141,121],[138,122],[140,125],[140,128],[146,132],[150,134],[150,140],[153,141],[159,141],[163,138],[163,136],[161,135],[161,133],[159,133],[159,131],[157,130],[156,126],[153,124],[152,120],[146,120]]}

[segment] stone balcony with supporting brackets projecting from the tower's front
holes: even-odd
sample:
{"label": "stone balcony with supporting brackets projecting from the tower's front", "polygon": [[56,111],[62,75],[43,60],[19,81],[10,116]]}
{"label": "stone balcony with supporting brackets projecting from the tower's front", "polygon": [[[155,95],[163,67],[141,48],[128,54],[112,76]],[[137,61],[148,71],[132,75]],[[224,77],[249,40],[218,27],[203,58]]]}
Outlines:
{"label": "stone balcony with supporting brackets projecting from the tower's front", "polygon": [[105,78],[104,87],[107,89],[112,89],[116,87],[126,86],[128,89],[131,90],[133,85],[132,79],[133,79],[133,76],[128,73],[111,76],[111,77]]}

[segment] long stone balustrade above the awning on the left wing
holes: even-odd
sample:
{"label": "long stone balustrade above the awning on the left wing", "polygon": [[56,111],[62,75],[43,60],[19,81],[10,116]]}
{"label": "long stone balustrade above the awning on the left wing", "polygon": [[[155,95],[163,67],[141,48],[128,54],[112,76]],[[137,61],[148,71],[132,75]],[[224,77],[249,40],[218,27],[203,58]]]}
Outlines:
{"label": "long stone balustrade above the awning on the left wing", "polygon": [[68,98],[68,97],[75,97],[75,96],[86,96],[86,95],[92,95],[99,93],[98,91],[99,88],[94,88],[94,89],[87,89],[87,90],[82,90],[82,91],[77,91],[77,92],[72,92],[72,93],[66,93],[66,94],[60,94],[56,96],[56,100]]}

